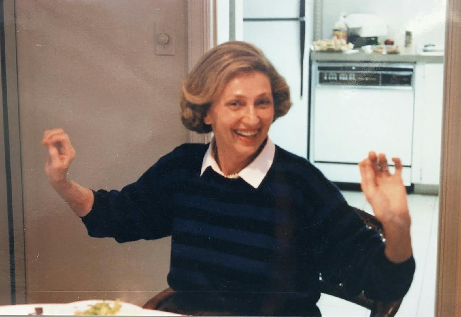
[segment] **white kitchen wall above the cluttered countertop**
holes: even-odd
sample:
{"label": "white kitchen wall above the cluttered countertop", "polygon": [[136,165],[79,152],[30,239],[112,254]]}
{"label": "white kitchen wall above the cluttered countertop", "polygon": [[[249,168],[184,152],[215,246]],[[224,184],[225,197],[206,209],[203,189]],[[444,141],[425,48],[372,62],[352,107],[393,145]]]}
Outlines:
{"label": "white kitchen wall above the cluttered countertop", "polygon": [[413,44],[444,45],[446,0],[323,0],[322,37],[330,38],[331,29],[341,12],[372,13],[388,24],[388,37],[403,45],[405,31],[413,32]]}

